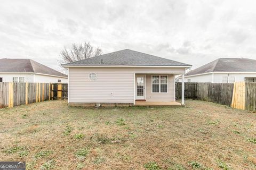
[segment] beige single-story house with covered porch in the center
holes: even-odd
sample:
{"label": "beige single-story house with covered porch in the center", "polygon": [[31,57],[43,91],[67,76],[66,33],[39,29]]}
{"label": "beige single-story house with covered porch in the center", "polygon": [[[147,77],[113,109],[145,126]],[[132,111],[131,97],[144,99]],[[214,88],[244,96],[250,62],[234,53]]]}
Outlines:
{"label": "beige single-story house with covered porch in the center", "polygon": [[68,69],[68,103],[73,106],[171,105],[174,76],[191,67],[130,49],[62,66]]}

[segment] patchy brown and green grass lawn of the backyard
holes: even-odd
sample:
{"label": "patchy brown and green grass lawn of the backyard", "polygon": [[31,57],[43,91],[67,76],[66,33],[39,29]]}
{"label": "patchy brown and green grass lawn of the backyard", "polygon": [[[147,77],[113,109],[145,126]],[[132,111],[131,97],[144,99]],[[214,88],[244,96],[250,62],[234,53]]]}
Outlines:
{"label": "patchy brown and green grass lawn of the backyard", "polygon": [[27,169],[256,169],[256,114],[186,107],[0,109],[0,161]]}

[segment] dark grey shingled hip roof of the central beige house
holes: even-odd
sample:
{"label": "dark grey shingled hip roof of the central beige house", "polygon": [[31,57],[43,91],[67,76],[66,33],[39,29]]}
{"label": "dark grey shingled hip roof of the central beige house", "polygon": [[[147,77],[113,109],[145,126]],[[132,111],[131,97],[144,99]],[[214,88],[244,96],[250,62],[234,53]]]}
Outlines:
{"label": "dark grey shingled hip roof of the central beige house", "polygon": [[[101,62],[102,60],[102,62]],[[180,63],[166,58],[157,57],[145,53],[135,52],[134,50],[124,49],[118,52],[103,54],[85,60],[63,64],[63,66],[106,66],[106,65],[138,65],[138,66],[188,66],[191,65]]]}

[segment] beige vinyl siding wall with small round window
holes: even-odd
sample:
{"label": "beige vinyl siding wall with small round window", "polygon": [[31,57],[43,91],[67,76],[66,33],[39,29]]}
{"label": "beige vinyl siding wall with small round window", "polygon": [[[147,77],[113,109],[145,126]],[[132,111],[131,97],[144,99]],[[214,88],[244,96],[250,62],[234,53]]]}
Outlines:
{"label": "beige vinyl siding wall with small round window", "polygon": [[[97,74],[95,81],[89,80],[92,72]],[[133,103],[134,73],[184,72],[184,68],[168,67],[69,67],[69,103]],[[174,90],[169,92],[174,95]]]}

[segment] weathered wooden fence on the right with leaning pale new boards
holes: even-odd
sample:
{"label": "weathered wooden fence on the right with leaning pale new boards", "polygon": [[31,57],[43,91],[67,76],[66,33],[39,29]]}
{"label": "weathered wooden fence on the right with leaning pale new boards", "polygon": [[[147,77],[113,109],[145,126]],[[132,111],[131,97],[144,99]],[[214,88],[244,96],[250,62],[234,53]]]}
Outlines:
{"label": "weathered wooden fence on the right with leaning pale new boards", "polygon": [[[181,83],[175,84],[175,95],[181,99]],[[256,112],[256,83],[190,83],[185,82],[185,98],[211,101],[233,108]]]}

